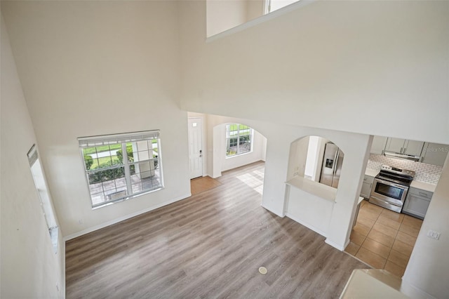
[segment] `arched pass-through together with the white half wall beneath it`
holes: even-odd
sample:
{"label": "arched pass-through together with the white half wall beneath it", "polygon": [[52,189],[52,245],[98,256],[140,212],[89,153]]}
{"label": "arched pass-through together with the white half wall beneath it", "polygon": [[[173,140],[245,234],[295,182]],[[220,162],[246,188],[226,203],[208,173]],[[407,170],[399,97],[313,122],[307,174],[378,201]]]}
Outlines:
{"label": "arched pass-through together with the white half wall beneath it", "polygon": [[286,215],[327,237],[333,215],[344,154],[320,136],[306,136],[290,144]]}

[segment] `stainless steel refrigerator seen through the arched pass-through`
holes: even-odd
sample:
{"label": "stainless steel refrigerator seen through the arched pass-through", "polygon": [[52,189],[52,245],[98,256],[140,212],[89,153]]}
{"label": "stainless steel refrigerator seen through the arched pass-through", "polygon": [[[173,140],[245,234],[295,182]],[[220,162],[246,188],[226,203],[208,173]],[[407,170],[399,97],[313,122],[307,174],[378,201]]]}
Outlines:
{"label": "stainless steel refrigerator seen through the arched pass-through", "polygon": [[343,165],[343,152],[332,142],[326,143],[321,167],[320,182],[337,188]]}

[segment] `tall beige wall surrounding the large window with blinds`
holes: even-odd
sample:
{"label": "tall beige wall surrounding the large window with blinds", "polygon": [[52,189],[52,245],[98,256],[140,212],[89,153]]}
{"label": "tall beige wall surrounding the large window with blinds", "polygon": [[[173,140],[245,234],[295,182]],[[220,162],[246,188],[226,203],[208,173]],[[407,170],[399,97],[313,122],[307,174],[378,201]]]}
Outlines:
{"label": "tall beige wall surrounding the large window with blinds", "polygon": [[[1,6],[64,236],[189,196],[175,1]],[[93,211],[76,138],[151,129],[165,189]]]}

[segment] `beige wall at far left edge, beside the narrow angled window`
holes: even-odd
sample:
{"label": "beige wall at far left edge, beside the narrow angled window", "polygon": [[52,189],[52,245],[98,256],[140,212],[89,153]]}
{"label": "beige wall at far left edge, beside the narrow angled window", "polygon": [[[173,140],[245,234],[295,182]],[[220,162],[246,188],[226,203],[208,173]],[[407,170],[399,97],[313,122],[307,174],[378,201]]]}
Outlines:
{"label": "beige wall at far left edge, beside the narrow angled window", "polygon": [[[36,143],[1,17],[1,298],[64,298],[65,247],[54,253],[27,152]],[[57,287],[59,288],[59,291]]]}

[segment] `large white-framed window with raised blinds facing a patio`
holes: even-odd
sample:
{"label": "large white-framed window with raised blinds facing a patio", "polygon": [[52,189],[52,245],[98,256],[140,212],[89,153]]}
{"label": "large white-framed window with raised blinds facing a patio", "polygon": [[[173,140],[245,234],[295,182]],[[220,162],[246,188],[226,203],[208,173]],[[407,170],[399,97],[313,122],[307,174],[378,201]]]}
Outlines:
{"label": "large white-framed window with raised blinds facing a patio", "polygon": [[93,208],[163,188],[159,131],[78,140]]}

